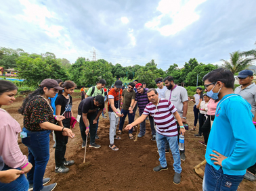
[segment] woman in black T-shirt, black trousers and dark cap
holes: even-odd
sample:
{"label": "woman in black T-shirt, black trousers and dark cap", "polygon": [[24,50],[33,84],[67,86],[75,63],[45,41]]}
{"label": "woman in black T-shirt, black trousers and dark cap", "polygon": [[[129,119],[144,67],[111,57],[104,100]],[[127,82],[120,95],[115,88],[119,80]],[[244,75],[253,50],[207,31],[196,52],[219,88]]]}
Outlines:
{"label": "woman in black T-shirt, black trousers and dark cap", "polygon": [[[65,117],[62,121],[59,121],[59,126],[70,128],[70,119],[73,117],[72,113],[72,97],[70,94],[74,92],[74,88],[77,85],[72,81],[65,81],[60,83],[60,87],[64,88],[64,91],[59,91],[59,95],[56,99],[56,115],[62,115]],[[64,136],[62,132],[56,132],[56,148],[55,148],[55,172],[66,173],[69,169],[65,166],[71,166],[74,161],[66,161],[66,144],[68,143],[68,137]]]}

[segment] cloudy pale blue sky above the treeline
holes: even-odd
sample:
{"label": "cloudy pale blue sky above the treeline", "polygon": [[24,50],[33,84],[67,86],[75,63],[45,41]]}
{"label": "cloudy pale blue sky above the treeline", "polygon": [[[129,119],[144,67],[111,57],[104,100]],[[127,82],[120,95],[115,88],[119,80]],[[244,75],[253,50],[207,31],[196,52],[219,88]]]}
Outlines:
{"label": "cloudy pale blue sky above the treeline", "polygon": [[221,64],[256,45],[251,0],[0,0],[0,47],[167,70],[190,58]]}

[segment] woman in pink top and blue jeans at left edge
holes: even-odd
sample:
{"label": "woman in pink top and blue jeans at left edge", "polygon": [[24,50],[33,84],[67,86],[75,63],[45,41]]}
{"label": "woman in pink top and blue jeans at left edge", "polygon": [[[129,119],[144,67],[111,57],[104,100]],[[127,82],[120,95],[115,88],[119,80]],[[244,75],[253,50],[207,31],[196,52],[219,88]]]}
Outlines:
{"label": "woman in pink top and blue jeans at left edge", "polygon": [[24,173],[32,168],[26,155],[20,151],[18,134],[20,124],[2,105],[11,105],[18,88],[6,80],[0,80],[0,190],[28,190],[28,180]]}

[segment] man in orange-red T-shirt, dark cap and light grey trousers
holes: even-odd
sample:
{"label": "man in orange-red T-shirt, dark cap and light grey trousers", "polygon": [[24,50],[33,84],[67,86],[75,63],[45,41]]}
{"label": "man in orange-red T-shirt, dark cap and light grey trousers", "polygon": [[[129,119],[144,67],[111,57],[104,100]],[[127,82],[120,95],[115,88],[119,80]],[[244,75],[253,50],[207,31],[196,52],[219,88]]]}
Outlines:
{"label": "man in orange-red T-shirt, dark cap and light grey trousers", "polygon": [[110,128],[109,128],[109,140],[110,145],[109,147],[113,151],[118,151],[119,148],[117,148],[116,145],[114,145],[114,139],[121,139],[121,137],[116,136],[116,126],[119,124],[119,117],[123,117],[123,114],[121,114],[121,103],[122,103],[122,81],[116,80],[114,82],[114,88],[112,88],[108,92],[108,117],[110,121]]}

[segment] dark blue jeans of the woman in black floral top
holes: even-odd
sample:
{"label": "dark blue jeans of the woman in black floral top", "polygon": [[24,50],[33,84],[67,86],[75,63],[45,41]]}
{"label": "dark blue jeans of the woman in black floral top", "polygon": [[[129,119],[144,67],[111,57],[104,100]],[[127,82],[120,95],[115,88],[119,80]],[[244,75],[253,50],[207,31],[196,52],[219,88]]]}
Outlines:
{"label": "dark blue jeans of the woman in black floral top", "polygon": [[50,130],[32,132],[23,128],[27,133],[22,143],[28,146],[28,161],[33,165],[27,173],[29,184],[34,185],[34,191],[43,189],[43,175],[49,161],[49,134]]}

